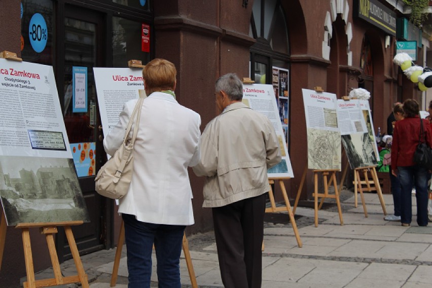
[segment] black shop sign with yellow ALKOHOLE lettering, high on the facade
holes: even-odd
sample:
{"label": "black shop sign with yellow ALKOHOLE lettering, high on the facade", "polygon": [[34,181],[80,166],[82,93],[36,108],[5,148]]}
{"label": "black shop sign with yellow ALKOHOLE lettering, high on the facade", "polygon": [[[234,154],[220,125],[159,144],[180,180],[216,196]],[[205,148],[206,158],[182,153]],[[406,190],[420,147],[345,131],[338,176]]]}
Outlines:
{"label": "black shop sign with yellow ALKOHOLE lettering, high on the facade", "polygon": [[390,35],[396,35],[396,13],[378,0],[355,0],[354,15],[379,27]]}

